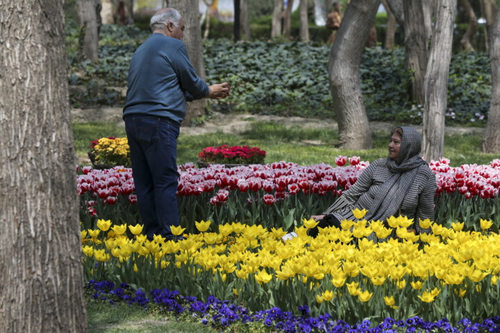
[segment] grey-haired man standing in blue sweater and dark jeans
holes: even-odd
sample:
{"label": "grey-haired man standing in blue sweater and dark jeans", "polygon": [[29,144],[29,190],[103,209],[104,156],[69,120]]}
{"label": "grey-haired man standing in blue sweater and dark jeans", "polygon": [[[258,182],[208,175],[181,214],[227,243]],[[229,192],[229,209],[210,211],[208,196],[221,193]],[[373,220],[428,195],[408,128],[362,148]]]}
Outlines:
{"label": "grey-haired man standing in blue sweater and dark jeans", "polygon": [[177,137],[186,101],[223,99],[228,83],[210,85],[197,76],[181,41],[184,20],[174,8],[151,17],[151,36],[135,51],[128,69],[124,107],[135,191],[148,239],[173,235],[177,209]]}

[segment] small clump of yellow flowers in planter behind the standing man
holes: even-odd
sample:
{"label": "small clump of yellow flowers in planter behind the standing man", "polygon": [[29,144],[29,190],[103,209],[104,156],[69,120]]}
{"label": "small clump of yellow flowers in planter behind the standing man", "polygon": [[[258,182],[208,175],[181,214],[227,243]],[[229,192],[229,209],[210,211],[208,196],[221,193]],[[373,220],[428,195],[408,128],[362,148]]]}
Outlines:
{"label": "small clump of yellow flowers in planter behind the standing man", "polygon": [[99,143],[94,146],[94,153],[97,162],[101,164],[131,165],[130,147],[126,137],[101,137]]}

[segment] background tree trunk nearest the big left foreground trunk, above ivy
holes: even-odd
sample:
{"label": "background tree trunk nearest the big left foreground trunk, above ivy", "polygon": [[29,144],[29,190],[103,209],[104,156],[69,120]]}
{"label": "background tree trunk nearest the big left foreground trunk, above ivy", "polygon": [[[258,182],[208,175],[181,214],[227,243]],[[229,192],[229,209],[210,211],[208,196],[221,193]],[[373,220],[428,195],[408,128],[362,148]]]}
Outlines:
{"label": "background tree trunk nearest the big left foreground trunk, above ivy", "polygon": [[99,33],[95,0],[76,0],[76,14],[80,27],[81,51],[91,61],[99,59]]}

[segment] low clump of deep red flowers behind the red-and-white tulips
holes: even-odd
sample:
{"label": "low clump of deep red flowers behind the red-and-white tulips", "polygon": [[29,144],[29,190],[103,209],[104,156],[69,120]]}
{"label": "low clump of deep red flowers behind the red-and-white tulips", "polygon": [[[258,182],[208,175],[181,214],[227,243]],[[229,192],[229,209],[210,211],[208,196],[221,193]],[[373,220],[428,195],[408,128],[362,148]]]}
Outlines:
{"label": "low clump of deep red flowers behind the red-and-white tulips", "polygon": [[261,164],[266,152],[258,147],[228,146],[206,147],[198,154],[201,161],[220,164]]}

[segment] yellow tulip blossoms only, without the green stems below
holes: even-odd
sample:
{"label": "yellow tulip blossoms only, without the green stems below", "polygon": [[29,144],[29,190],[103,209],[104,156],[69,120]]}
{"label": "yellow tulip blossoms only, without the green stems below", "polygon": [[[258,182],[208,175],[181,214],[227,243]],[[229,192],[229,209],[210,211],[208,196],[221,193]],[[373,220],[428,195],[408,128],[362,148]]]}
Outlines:
{"label": "yellow tulip blossoms only, without the green stems below", "polygon": [[[388,221],[391,228],[380,221],[342,221],[341,229],[319,229],[313,239],[307,230],[316,223],[304,221],[295,229],[298,237],[283,243],[285,232],[281,228],[266,230],[260,225],[228,223],[219,225],[218,233],[205,232],[210,221],[197,222],[201,233],[184,235],[180,241],[165,241],[162,237],[149,241],[140,234],[140,225],[128,226],[135,234],[129,239],[125,236],[127,225],[111,227],[110,221],[99,220],[99,229],[82,231],[82,242],[83,253],[101,262],[113,257],[120,263],[131,257],[145,257],[157,268],[187,265],[192,267],[193,275],[208,271],[219,274],[223,282],[230,276],[233,281],[247,281],[253,276],[261,286],[272,281],[303,283],[317,291],[318,303],[347,293],[368,302],[378,288],[384,287],[378,297],[387,307],[397,309],[393,295],[408,288],[415,300],[433,302],[443,288],[449,288],[457,297],[480,291],[480,282],[487,277],[487,283],[496,289],[499,234],[463,232],[457,224],[444,228],[428,220],[420,223],[430,226],[433,234],[408,232],[411,219],[392,217]],[[481,222],[484,230],[488,225],[490,221]],[[376,243],[366,238],[375,233],[385,239],[393,229],[399,239]],[[178,235],[183,230],[172,228]],[[106,231],[107,237],[100,241],[99,233]],[[169,266],[171,263],[174,268]]]}

